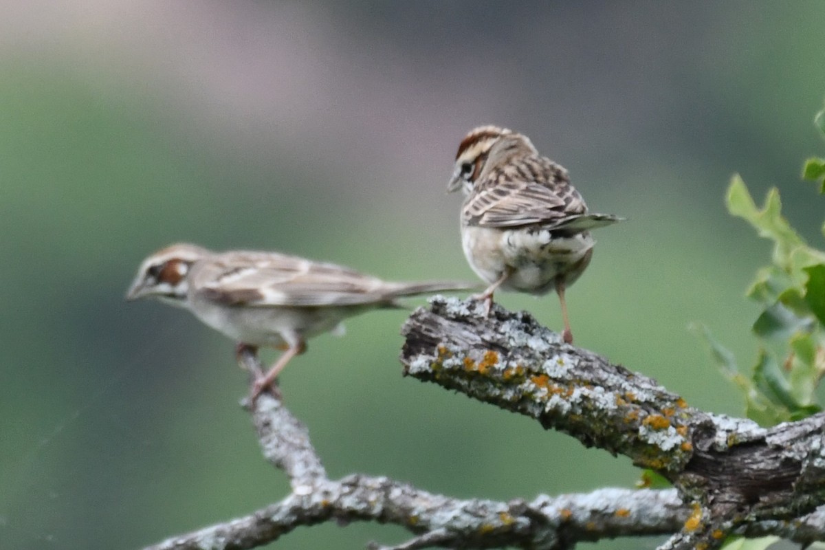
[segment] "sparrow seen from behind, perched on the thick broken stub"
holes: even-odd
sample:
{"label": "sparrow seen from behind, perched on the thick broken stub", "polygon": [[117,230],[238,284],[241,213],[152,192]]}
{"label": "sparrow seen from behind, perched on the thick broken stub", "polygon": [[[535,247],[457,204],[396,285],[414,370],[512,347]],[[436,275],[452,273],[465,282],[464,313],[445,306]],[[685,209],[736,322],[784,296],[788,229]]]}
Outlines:
{"label": "sparrow seen from behind, perched on the thick broken stub", "polygon": [[620,221],[588,214],[568,172],[542,157],[530,139],[509,129],[480,126],[464,136],[448,191],[464,190],[464,256],[489,287],[475,296],[487,312],[502,289],[559,294],[563,338],[573,342],[564,290],[582,275],[595,241],[589,229]]}

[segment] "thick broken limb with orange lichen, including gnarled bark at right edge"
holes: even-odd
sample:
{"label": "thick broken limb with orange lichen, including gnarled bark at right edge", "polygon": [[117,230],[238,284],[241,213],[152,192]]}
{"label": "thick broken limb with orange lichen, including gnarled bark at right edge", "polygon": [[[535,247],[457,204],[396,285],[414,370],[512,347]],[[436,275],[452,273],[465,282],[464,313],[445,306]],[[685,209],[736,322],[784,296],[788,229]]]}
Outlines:
{"label": "thick broken limb with orange lichen, including gnarled bark at right edge", "polygon": [[[535,418],[671,480],[694,514],[667,548],[716,548],[825,503],[825,414],[763,429],[696,410],[652,378],[568,346],[527,313],[431,300],[404,325],[405,373]],[[764,525],[764,524],[763,524]]]}

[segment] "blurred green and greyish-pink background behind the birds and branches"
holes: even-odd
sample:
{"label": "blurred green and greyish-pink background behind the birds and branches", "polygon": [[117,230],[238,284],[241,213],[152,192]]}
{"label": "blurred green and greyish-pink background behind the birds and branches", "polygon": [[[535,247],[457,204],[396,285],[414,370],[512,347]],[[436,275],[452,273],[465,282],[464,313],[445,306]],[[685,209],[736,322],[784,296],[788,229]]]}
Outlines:
{"label": "blurred green and greyish-pink background behind the birds and branches", "polygon": [[[472,280],[445,187],[476,125],[529,135],[591,209],[629,219],[597,233],[568,293],[577,345],[696,407],[742,414],[689,323],[741,364],[755,356],[743,291],[769,244],[725,213],[729,177],[760,197],[779,186],[791,222],[822,240],[823,200],[799,170],[823,152],[811,124],[823,2],[10,0],[2,12],[0,548],[140,548],[285,496],[238,407],[233,344],[188,313],[125,303],[126,286],[177,241]],[[498,299],[560,326],[552,295]],[[625,458],[402,378],[405,316],[351,319],[281,378],[332,477],[502,500],[638,478]],[[329,524],[273,546],[406,537]]]}

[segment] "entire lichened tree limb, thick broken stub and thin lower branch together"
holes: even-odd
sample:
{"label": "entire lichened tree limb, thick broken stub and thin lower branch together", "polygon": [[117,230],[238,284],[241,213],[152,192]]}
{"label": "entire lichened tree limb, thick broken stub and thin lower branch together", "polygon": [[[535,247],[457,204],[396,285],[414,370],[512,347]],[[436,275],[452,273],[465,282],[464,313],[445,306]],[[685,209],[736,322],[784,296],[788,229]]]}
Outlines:
{"label": "entire lichened tree limb, thick broken stub and thin lower branch together", "polygon": [[[395,547],[544,548],[674,534],[661,548],[716,548],[728,534],[825,538],[822,415],[765,430],[689,407],[653,379],[564,345],[525,313],[436,298],[404,327],[405,374],[520,412],[582,443],[662,472],[667,490],[601,489],[527,502],[461,500],[387,477],[330,480],[306,427],[279,397],[247,403],[262,452],[292,493],[250,515],[146,550],[255,548],[299,526],[376,521],[413,538]],[[260,369],[247,352],[251,372]],[[280,392],[276,392],[279,393]]]}

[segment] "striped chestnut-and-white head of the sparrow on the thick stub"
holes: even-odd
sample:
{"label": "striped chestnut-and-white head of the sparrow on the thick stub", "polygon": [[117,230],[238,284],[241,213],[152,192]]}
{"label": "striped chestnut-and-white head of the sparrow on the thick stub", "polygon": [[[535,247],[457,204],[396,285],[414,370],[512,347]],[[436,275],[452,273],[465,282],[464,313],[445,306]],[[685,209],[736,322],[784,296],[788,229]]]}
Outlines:
{"label": "striped chestnut-and-white head of the sparrow on the thick stub", "polygon": [[535,154],[530,139],[510,129],[479,126],[464,136],[455,153],[455,168],[447,191],[464,190],[468,195],[486,166],[501,166],[518,154]]}

